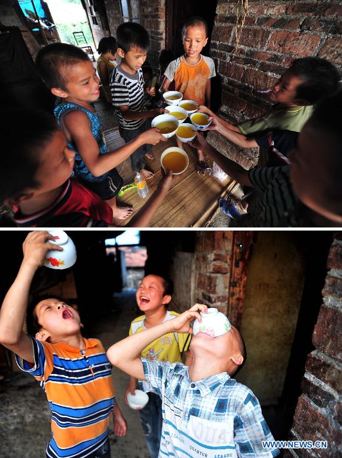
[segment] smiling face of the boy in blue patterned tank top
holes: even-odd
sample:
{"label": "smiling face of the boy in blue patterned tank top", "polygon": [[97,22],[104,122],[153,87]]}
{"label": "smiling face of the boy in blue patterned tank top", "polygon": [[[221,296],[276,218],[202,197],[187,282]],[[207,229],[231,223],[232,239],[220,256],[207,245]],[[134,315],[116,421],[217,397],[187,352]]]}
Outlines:
{"label": "smiling face of the boy in blue patterned tank top", "polygon": [[63,69],[68,82],[66,91],[60,88],[52,88],[51,92],[62,98],[68,98],[76,102],[94,102],[100,96],[99,78],[93,64],[88,61],[79,61]]}

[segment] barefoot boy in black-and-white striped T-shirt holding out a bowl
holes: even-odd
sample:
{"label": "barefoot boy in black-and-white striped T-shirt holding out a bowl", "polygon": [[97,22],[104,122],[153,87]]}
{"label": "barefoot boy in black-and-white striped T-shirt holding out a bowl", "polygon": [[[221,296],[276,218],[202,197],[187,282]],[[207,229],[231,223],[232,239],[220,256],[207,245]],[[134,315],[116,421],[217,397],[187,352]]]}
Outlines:
{"label": "barefoot boy in black-and-white striped T-shirt holding out a bowl", "polygon": [[[147,118],[154,118],[164,112],[163,108],[147,110],[144,96],[143,66],[150,47],[150,37],[145,28],[136,22],[124,22],[117,29],[118,54],[121,62],[110,76],[112,104],[116,107],[119,132],[127,142],[151,127]],[[155,88],[146,88],[154,97]],[[142,145],[131,155],[132,170],[146,179],[153,177],[145,166],[147,159],[153,159],[151,145]]]}

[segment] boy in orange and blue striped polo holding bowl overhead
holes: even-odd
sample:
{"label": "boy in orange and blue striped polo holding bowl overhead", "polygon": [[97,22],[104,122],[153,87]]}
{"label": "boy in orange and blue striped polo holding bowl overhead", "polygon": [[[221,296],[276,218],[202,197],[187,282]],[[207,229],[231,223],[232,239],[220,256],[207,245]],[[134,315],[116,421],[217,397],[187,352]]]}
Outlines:
{"label": "boy in orange and blue striped polo holding bowl overhead", "polygon": [[[79,313],[63,299],[36,298],[27,307],[31,282],[47,252],[63,251],[50,240],[52,235],[36,231],[23,243],[20,270],[0,309],[0,342],[46,392],[52,434],[46,456],[110,458],[110,416],[118,436],[125,436],[127,426],[100,340],[82,337]],[[22,331],[25,314],[28,335]]]}

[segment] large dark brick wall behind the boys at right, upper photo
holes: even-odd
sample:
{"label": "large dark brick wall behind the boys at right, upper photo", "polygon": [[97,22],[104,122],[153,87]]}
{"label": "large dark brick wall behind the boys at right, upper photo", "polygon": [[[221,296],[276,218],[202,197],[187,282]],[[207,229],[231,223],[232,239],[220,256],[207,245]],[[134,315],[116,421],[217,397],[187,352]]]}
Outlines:
{"label": "large dark brick wall behind the boys at right, upper photo", "polygon": [[[255,118],[271,104],[260,88],[272,85],[304,56],[319,56],[342,66],[342,4],[340,1],[249,0],[236,55],[235,24],[240,0],[218,0],[211,37],[211,57],[222,82],[219,116],[236,123]],[[258,154],[233,147],[215,132],[209,141],[220,152],[245,168],[257,162]]]}

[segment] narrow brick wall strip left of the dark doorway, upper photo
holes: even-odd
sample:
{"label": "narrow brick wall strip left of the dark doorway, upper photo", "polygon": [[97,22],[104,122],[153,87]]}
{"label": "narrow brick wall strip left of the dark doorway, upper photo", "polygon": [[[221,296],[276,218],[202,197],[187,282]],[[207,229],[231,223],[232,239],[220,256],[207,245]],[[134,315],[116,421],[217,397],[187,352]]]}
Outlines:
{"label": "narrow brick wall strip left of the dark doorway, upper photo", "polygon": [[140,23],[151,39],[148,60],[155,72],[158,71],[158,56],[165,47],[165,0],[141,0]]}

